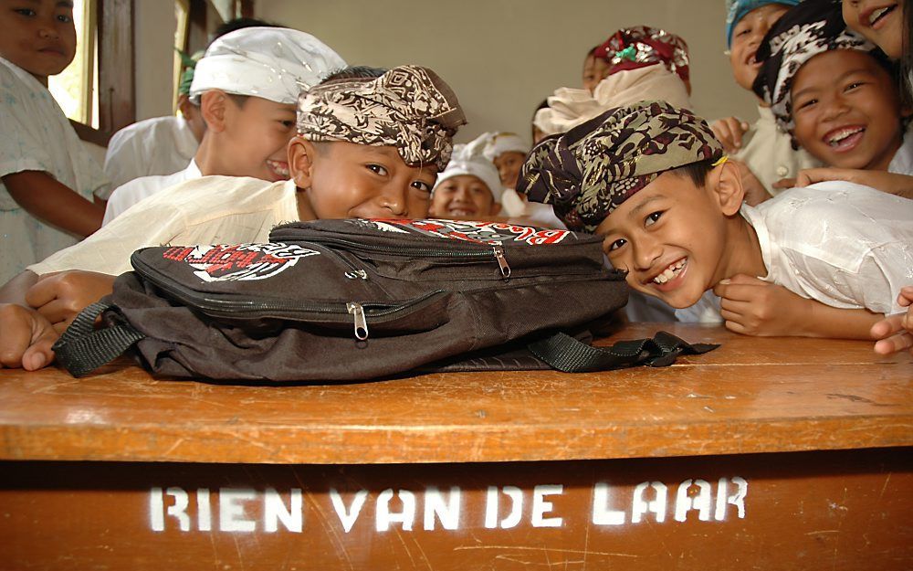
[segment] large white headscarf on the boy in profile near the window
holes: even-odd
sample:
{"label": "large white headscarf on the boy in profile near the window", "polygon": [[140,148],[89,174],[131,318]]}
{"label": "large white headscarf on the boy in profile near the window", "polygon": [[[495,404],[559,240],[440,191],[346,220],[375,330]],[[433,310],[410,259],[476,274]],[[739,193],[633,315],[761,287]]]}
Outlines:
{"label": "large white headscarf on the boy in profile near the window", "polygon": [[346,67],[329,46],[287,27],[245,27],[218,37],[196,64],[191,100],[207,90],[296,104],[332,72]]}

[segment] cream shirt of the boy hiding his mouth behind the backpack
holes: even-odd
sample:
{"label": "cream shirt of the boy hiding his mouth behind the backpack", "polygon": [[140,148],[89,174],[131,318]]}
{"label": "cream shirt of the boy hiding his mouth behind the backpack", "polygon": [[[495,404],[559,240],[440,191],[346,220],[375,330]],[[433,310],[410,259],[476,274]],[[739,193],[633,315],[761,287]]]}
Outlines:
{"label": "cream shirt of the boy hiding his mouth behind the backpack", "polygon": [[28,267],[38,275],[131,270],[134,250],[148,246],[266,242],[269,230],[299,219],[294,181],[204,176],[166,188],[74,246]]}

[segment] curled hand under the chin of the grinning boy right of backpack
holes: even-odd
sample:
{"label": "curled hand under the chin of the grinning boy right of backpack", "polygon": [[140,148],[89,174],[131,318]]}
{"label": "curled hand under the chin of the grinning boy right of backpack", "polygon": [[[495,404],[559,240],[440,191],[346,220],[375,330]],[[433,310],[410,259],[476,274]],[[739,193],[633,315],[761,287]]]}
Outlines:
{"label": "curled hand under the chin of the grinning boy right of backpack", "polygon": [[761,337],[803,334],[807,304],[813,302],[743,274],[721,280],[713,292],[722,298],[719,314],[727,329]]}

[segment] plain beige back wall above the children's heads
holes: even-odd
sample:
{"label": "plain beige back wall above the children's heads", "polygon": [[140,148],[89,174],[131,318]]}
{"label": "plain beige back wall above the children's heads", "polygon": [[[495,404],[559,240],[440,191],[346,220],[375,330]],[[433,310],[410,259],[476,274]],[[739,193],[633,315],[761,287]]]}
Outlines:
{"label": "plain beige back wall above the children's heads", "polygon": [[[141,0],[142,3],[143,0]],[[150,0],[144,0],[150,1]],[[583,57],[623,26],[665,27],[691,50],[696,111],[753,120],[732,80],[723,0],[257,0],[257,17],[310,32],[352,65],[415,63],[456,90],[469,124],[457,137],[530,136],[530,117],[561,86],[579,87]]]}

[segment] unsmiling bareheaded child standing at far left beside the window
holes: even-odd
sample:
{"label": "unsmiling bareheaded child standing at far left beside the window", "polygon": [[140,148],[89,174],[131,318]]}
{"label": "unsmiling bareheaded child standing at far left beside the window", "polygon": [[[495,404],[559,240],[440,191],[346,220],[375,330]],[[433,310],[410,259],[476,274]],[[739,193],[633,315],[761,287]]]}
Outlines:
{"label": "unsmiling bareheaded child standing at far left beside the window", "polygon": [[47,90],[76,54],[73,5],[0,10],[0,282],[101,226],[110,186]]}

